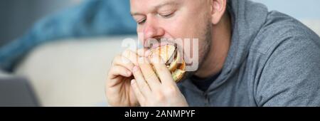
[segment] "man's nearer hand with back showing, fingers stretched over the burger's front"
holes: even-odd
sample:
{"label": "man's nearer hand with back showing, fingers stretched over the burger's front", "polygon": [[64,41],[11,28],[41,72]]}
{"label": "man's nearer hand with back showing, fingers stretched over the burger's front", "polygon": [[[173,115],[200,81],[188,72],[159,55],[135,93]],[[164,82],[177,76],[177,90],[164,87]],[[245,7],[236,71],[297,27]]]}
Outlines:
{"label": "man's nearer hand with back showing, fingers stretched over the burger's front", "polygon": [[[132,68],[134,74],[132,89],[140,105],[147,107],[188,106],[186,98],[178,89],[161,57],[142,57],[139,61],[142,61],[141,59],[144,63],[139,63],[139,66]],[[151,65],[154,66],[154,69]]]}

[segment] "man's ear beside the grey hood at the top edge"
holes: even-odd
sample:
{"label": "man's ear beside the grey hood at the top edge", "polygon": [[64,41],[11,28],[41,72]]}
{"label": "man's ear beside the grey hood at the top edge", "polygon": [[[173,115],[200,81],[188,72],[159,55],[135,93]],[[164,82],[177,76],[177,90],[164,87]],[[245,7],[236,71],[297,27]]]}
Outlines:
{"label": "man's ear beside the grey hood at the top edge", "polygon": [[211,22],[218,24],[225,14],[228,0],[210,0],[211,4]]}

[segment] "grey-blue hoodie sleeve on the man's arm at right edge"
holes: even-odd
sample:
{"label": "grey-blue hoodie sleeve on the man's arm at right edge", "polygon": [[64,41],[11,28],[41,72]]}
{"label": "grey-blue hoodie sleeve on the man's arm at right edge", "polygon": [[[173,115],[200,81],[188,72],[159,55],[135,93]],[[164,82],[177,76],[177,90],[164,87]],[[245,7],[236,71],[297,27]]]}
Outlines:
{"label": "grey-blue hoodie sleeve on the man's arm at right edge", "polygon": [[257,85],[258,106],[320,106],[320,42],[289,37],[267,57]]}

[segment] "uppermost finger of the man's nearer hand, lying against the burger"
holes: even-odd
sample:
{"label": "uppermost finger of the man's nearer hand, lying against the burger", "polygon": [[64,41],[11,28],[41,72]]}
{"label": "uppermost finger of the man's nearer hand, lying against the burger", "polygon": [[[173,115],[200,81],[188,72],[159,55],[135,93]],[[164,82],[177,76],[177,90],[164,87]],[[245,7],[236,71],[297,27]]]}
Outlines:
{"label": "uppermost finger of the man's nearer hand, lying against the burger", "polygon": [[174,79],[169,71],[169,69],[164,64],[164,61],[159,55],[154,55],[149,57],[151,64],[154,65],[154,69],[156,73],[158,73],[159,79],[161,83],[164,85],[172,85],[174,84]]}

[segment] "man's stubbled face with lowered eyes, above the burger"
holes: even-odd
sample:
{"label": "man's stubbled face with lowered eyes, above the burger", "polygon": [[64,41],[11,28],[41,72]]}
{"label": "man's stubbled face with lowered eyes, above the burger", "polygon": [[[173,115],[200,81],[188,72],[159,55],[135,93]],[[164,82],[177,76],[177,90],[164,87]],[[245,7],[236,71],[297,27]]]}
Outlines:
{"label": "man's stubbled face with lowered eyes, above the burger", "polygon": [[[212,39],[208,0],[131,0],[130,2],[131,14],[137,21],[137,33],[142,43],[151,38],[157,40],[198,38],[198,63],[201,65],[210,49]],[[176,44],[183,47],[181,43]],[[191,48],[183,49],[191,51]]]}

